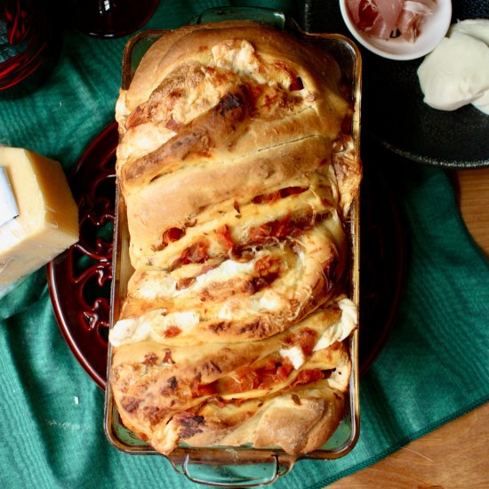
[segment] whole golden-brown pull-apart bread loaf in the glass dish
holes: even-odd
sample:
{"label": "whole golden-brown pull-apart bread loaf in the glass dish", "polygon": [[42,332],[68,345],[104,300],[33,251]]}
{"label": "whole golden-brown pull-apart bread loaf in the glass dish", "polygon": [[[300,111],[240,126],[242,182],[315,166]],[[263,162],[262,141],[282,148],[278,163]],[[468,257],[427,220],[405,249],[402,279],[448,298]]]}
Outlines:
{"label": "whole golden-brown pull-apart bread loaf in the glass dish", "polygon": [[134,273],[110,331],[110,384],[158,452],[308,453],[340,423],[345,223],[361,167],[333,57],[248,21],[180,28],[116,104]]}

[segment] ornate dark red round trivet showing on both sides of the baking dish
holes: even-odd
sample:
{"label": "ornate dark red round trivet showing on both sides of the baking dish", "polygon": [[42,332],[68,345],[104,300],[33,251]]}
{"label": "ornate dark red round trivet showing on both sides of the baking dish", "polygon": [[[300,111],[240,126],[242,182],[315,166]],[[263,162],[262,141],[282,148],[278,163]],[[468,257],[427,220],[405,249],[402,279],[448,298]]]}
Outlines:
{"label": "ornate dark red round trivet showing on both sides of the baking dish", "polygon": [[[101,389],[107,381],[116,123],[92,141],[69,175],[80,241],[47,267],[54,314],[76,359]],[[386,341],[403,286],[405,250],[397,204],[381,172],[365,166],[360,238],[360,373]]]}

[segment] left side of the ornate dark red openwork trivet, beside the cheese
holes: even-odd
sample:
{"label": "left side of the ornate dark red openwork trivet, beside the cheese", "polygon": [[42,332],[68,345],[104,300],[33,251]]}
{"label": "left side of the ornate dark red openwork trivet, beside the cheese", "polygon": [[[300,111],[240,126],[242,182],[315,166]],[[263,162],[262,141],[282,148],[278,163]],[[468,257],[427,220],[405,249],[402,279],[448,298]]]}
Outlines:
{"label": "left side of the ornate dark red openwork trivet, beside the cheese", "polygon": [[47,266],[61,333],[101,389],[107,379],[117,141],[113,123],[85,149],[68,176],[78,204],[80,240]]}

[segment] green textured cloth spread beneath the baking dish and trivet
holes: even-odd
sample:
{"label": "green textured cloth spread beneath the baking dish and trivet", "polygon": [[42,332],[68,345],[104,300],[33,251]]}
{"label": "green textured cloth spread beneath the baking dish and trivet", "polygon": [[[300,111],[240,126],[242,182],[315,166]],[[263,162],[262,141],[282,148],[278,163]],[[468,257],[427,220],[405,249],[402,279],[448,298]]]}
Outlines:
{"label": "green textured cloth spread beneath the baking dish and trivet", "polygon": [[[175,28],[217,4],[162,1],[145,28]],[[73,165],[113,119],[127,39],[67,31],[49,83],[0,101],[0,143]],[[298,462],[274,487],[324,486],[488,399],[488,262],[445,172],[394,156],[390,163],[401,177],[409,269],[393,331],[361,382],[360,439],[341,460]],[[41,269],[0,299],[1,485],[196,486],[164,457],[118,452],[102,426],[103,393],[63,341]]]}

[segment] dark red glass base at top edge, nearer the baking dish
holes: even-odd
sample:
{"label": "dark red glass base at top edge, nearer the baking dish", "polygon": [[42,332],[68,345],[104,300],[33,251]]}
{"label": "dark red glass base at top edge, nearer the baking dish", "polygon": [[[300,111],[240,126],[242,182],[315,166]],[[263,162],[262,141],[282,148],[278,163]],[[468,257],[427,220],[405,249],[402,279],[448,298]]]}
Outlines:
{"label": "dark red glass base at top edge, nearer the baking dish", "polygon": [[142,27],[159,0],[72,0],[71,25],[97,37],[118,37]]}

